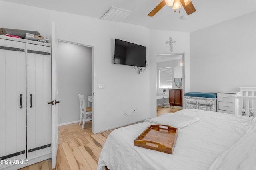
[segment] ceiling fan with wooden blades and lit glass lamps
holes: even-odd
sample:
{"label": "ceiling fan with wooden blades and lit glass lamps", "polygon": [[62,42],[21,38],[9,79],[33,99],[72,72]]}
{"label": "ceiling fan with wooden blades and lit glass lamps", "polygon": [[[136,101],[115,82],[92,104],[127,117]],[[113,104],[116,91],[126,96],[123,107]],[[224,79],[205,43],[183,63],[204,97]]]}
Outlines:
{"label": "ceiling fan with wooden blades and lit glass lamps", "polygon": [[152,10],[148,14],[148,16],[150,16],[150,17],[154,16],[165,5],[172,6],[172,9],[174,9],[174,11],[176,11],[176,9],[180,9],[181,8],[180,4],[182,4],[184,10],[186,11],[186,13],[188,15],[192,14],[193,12],[196,11],[196,8],[192,4],[191,0],[162,0],[162,2],[160,2],[160,4],[158,4],[158,6],[156,6],[156,8],[154,8],[154,10]]}

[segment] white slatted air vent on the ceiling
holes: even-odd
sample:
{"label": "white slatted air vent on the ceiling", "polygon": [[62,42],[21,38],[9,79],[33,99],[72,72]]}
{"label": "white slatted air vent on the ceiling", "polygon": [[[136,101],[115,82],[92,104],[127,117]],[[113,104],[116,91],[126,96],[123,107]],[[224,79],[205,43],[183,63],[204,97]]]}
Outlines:
{"label": "white slatted air vent on the ceiling", "polygon": [[133,12],[111,6],[109,10],[107,10],[107,12],[102,17],[100,17],[100,19],[120,22],[131,13]]}

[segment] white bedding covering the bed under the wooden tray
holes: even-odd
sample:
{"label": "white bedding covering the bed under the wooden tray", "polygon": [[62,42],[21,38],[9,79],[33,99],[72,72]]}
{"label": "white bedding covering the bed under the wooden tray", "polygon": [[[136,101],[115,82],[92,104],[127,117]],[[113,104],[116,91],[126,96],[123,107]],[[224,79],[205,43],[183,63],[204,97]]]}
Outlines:
{"label": "white bedding covering the bed under the wooden tray", "polygon": [[[227,170],[228,164],[232,164],[232,170],[250,170],[255,168],[255,161],[250,164],[248,161],[256,158],[256,147],[248,146],[255,145],[256,140],[256,121],[252,123],[252,120],[251,117],[184,109],[122,127],[108,136],[98,170],[104,170],[105,166],[110,170]],[[134,146],[134,139],[151,124],[180,127],[173,154]]]}

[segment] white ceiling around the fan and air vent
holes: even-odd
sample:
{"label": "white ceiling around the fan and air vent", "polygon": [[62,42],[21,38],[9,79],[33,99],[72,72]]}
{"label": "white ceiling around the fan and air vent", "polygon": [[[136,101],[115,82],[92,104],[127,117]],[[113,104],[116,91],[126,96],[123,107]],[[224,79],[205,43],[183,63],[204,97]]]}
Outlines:
{"label": "white ceiling around the fan and air vent", "polygon": [[225,20],[256,11],[256,0],[192,0],[196,12],[186,20],[165,5],[154,17],[148,17],[162,0],[2,0],[50,10],[100,18],[110,6],[132,11],[122,22],[142,25],[149,29],[192,32]]}

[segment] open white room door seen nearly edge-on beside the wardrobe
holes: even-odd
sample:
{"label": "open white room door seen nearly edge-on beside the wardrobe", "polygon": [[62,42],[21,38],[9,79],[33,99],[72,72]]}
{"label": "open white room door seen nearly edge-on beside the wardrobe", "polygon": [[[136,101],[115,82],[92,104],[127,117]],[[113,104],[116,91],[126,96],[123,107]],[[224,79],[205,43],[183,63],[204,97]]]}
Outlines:
{"label": "open white room door seen nearly edge-on beside the wardrobe", "polygon": [[55,168],[58,151],[58,68],[55,23],[52,22],[52,168]]}

